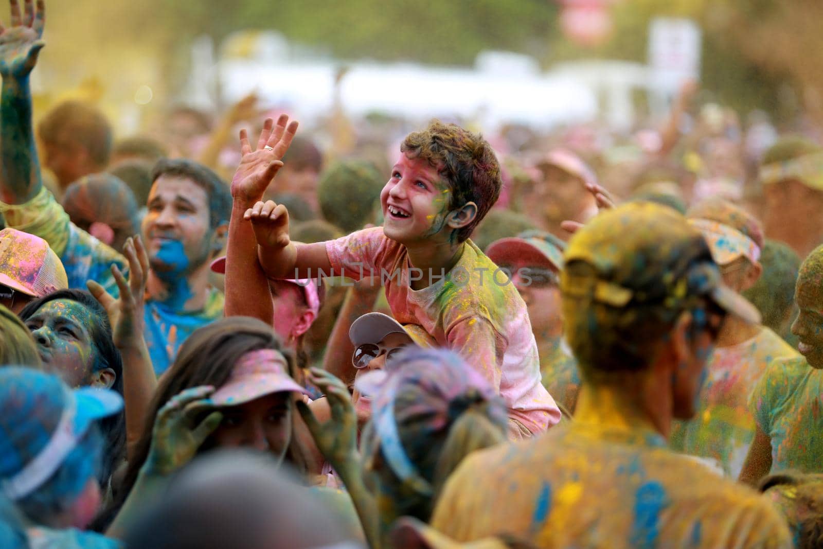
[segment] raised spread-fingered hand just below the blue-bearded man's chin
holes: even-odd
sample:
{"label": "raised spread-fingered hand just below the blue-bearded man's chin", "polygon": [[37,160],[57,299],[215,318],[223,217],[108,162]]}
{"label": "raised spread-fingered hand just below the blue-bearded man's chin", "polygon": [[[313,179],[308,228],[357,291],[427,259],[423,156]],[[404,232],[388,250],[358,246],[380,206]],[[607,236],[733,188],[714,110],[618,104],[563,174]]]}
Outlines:
{"label": "raised spread-fingered hand just below the blue-bearded man's chin", "polygon": [[143,341],[144,294],[149,257],[140,236],[126,240],[123,255],[128,259],[128,281],[117,265],[111,266],[114,281],[117,282],[120,291],[119,299],[115,300],[103,286],[93,280],[87,281],[86,286],[109,315],[114,345],[119,349],[134,349],[141,346]]}

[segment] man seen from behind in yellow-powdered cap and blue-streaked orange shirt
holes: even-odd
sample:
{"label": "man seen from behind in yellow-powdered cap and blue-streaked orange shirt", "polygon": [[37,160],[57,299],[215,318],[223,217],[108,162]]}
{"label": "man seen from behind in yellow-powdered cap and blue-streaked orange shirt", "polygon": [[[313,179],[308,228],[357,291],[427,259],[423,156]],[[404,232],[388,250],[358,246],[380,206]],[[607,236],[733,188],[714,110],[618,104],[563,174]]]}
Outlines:
{"label": "man seen from behind in yellow-powdered cap and blue-streaked orange shirt", "polygon": [[432,527],[538,547],[791,547],[768,502],[667,449],[672,419],[695,413],[723,319],[760,318],[723,285],[700,231],[669,207],[629,203],[578,230],[564,259],[583,377],[574,421],[467,458]]}

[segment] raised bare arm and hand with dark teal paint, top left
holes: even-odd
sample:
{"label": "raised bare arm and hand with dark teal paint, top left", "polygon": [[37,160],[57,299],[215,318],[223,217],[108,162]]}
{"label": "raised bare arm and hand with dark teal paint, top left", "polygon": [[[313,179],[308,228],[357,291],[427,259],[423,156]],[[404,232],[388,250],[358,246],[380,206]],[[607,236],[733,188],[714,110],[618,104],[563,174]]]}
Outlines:
{"label": "raised bare arm and hand with dark teal paint, top left", "polygon": [[26,0],[26,14],[12,0],[12,26],[0,34],[0,134],[2,134],[2,178],[0,198],[7,204],[22,204],[35,198],[43,187],[31,123],[29,75],[44,42],[44,2]]}

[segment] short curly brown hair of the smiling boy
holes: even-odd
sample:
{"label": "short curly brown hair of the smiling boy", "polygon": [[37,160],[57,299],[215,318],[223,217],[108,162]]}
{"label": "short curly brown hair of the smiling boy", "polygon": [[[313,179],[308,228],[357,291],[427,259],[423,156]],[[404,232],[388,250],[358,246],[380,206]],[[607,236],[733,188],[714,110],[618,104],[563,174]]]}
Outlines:
{"label": "short curly brown hair of the smiling boy", "polygon": [[451,190],[449,210],[467,202],[477,204],[477,216],[458,230],[458,241],[467,240],[495,205],[503,187],[500,164],[491,145],[480,134],[432,120],[424,130],[408,134],[400,151],[439,170]]}

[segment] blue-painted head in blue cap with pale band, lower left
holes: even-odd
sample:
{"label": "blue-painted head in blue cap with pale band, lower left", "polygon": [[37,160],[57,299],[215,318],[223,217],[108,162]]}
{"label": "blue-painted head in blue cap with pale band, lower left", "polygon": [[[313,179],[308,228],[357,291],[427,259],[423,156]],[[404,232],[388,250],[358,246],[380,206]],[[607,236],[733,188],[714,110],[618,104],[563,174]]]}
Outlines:
{"label": "blue-painted head in blue cap with pale band, lower left", "polygon": [[94,509],[72,507],[100,468],[95,423],[122,405],[111,391],[72,391],[54,375],[0,368],[0,485],[30,521],[85,527]]}

